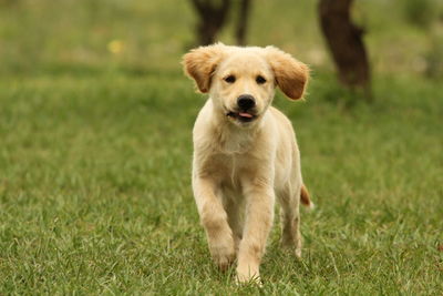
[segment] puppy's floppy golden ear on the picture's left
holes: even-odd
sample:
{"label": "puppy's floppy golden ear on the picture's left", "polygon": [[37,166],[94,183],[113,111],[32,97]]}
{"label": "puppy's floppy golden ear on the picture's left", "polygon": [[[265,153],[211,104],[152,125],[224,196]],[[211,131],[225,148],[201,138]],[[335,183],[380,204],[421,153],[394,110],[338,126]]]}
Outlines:
{"label": "puppy's floppy golden ear on the picture's left", "polygon": [[210,76],[222,61],[226,47],[217,43],[193,49],[183,57],[185,73],[195,80],[198,90],[203,93],[210,88]]}

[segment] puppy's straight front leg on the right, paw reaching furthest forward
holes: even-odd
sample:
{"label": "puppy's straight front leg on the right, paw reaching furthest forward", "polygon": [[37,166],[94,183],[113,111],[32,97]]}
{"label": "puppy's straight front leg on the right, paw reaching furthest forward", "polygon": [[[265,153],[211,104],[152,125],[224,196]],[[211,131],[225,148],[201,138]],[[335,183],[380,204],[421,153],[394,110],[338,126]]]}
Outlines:
{"label": "puppy's straight front leg on the right, paw reaching furthest forward", "polygon": [[272,226],[275,194],[270,182],[264,180],[245,181],[244,192],[246,221],[238,251],[237,279],[260,282],[259,265]]}

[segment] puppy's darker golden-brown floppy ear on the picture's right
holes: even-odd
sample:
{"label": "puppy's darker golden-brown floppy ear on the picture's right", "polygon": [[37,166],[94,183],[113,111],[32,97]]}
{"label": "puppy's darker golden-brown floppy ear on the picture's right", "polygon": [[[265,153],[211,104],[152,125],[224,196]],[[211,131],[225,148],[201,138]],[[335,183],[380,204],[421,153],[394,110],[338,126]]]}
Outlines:
{"label": "puppy's darker golden-brown floppy ear on the picture's right", "polygon": [[308,65],[275,47],[265,48],[265,52],[280,90],[292,100],[302,98],[309,80]]}

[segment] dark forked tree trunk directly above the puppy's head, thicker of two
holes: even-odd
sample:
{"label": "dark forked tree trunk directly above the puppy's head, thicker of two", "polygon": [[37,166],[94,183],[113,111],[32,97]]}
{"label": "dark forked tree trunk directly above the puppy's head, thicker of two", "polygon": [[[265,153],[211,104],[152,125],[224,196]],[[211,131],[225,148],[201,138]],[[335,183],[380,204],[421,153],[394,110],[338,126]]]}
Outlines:
{"label": "dark forked tree trunk directly above the puppy's head, thicker of two", "polygon": [[230,0],[192,0],[199,19],[196,28],[197,43],[207,45],[215,42],[216,35],[226,23]]}

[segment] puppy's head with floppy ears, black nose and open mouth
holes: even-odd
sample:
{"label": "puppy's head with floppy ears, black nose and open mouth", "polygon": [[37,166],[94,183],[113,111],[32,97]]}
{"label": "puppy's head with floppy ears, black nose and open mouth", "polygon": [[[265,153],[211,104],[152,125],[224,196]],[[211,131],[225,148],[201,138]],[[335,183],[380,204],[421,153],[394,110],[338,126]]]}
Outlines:
{"label": "puppy's head with floppy ears, black nose and open mouth", "polygon": [[274,47],[200,47],[184,55],[184,68],[217,112],[238,125],[261,118],[277,85],[292,100],[302,98],[309,79],[306,64]]}

